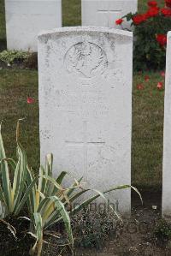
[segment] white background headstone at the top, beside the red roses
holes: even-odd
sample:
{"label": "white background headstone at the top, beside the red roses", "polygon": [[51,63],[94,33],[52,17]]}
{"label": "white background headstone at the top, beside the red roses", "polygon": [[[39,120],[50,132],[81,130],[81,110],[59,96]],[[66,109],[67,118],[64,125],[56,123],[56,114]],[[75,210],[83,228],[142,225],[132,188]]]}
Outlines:
{"label": "white background headstone at the top, beside the red roses", "polygon": [[[137,0],[82,0],[82,25],[121,28],[115,21],[137,9]],[[130,29],[129,23],[122,25]]]}

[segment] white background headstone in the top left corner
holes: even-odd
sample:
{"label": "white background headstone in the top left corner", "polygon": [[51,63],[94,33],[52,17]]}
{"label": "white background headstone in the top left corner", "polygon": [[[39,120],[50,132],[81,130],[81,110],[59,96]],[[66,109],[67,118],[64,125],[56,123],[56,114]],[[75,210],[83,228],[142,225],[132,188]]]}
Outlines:
{"label": "white background headstone in the top left corner", "polygon": [[62,0],[5,0],[7,48],[37,51],[38,33],[62,27]]}

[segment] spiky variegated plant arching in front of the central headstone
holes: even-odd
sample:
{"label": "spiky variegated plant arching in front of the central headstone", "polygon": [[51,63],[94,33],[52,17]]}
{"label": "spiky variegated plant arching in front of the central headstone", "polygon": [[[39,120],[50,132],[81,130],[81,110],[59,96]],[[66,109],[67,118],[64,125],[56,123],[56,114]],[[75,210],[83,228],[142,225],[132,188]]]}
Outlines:
{"label": "spiky variegated plant arching in front of the central headstone", "polygon": [[[82,188],[82,178],[80,178],[79,181],[74,179],[73,185],[68,188],[63,188],[62,182],[68,174],[66,172],[62,172],[57,179],[54,179],[52,177],[52,163],[53,155],[48,154],[46,157],[45,168],[41,166],[39,169],[38,184],[34,185],[32,188],[32,193],[30,193],[27,200],[31,223],[33,223],[30,234],[36,238],[32,251],[34,252],[36,247],[38,247],[38,256],[41,255],[42,251],[43,232],[45,229],[48,229],[50,225],[63,222],[68,234],[68,242],[73,246],[74,239],[70,222],[71,214],[76,214],[77,212],[81,211],[98,197],[102,197],[104,200],[106,200],[106,202],[108,202],[104,196],[105,193],[118,189],[133,188],[129,185],[122,185],[115,188],[109,188],[108,191],[103,193],[92,189],[91,191],[96,193],[94,196],[91,196],[90,198],[85,199],[83,202],[80,202],[80,204],[72,207],[72,205],[74,205],[74,201],[78,201],[80,196],[87,191],[90,191],[90,189]],[[33,180],[33,172],[32,170],[29,170],[27,177],[28,184],[32,183]],[[133,189],[139,193],[136,188]],[[112,208],[112,211],[115,210]],[[119,217],[117,212],[115,212],[115,214],[117,217]]]}

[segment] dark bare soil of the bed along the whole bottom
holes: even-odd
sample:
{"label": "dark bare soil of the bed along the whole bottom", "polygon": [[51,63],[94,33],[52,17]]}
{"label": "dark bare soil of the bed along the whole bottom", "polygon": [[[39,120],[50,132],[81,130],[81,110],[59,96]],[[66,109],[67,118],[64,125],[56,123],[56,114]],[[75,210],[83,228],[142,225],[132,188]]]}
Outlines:
{"label": "dark bare soil of the bed along the whole bottom", "polygon": [[[139,198],[133,197],[132,216],[110,230],[108,239],[98,248],[78,247],[66,253],[57,247],[55,237],[45,237],[43,256],[165,256],[171,255],[170,241],[164,241],[154,232],[156,223],[161,220],[161,193],[142,193],[144,205]],[[31,241],[20,233],[19,241],[11,242],[11,235],[0,224],[0,256],[26,256]],[[3,227],[3,228],[2,228]],[[22,227],[21,227],[22,229]],[[61,252],[61,253],[60,253]]]}

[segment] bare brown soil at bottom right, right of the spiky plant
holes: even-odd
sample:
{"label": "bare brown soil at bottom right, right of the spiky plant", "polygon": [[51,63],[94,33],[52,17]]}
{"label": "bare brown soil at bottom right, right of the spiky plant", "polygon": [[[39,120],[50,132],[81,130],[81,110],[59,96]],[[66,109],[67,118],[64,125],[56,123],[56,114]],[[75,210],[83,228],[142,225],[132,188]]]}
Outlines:
{"label": "bare brown soil at bottom right, right of the spiky plant", "polygon": [[[143,193],[144,205],[133,197],[132,217],[116,229],[114,237],[97,251],[76,251],[77,256],[165,256],[171,255],[169,241],[156,237],[154,230],[161,219],[161,193]],[[153,209],[155,208],[155,209]]]}

